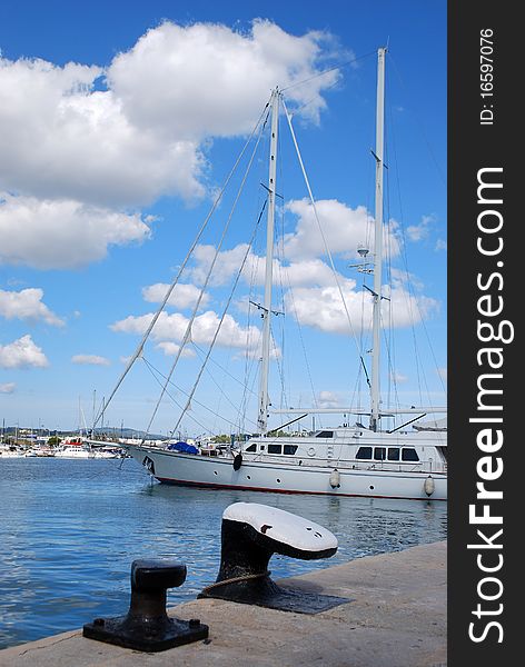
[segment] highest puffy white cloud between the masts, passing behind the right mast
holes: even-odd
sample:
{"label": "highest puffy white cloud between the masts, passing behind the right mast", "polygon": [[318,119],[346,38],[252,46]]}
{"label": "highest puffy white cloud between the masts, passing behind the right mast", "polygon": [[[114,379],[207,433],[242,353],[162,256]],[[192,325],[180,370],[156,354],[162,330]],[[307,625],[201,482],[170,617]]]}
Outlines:
{"label": "highest puffy white cloud between the masts, passing behind the right mast", "polygon": [[[289,201],[286,210],[298,217],[296,229],[285,236],[285,256],[288,259],[311,259],[325,255],[325,242],[319,232],[315,210],[308,199]],[[374,246],[374,219],[364,206],[353,209],[337,199],[316,201],[323,235],[331,255],[357,257],[357,248]],[[384,228],[385,253],[392,258],[399,253],[399,242],[393,231],[397,228],[390,222]]]}

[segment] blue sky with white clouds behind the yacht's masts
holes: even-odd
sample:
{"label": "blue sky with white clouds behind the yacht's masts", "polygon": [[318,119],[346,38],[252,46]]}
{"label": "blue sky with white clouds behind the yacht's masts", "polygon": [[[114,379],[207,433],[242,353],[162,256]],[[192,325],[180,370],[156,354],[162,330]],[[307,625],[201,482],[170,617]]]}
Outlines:
{"label": "blue sky with white clouds behind the yacht's masts", "polygon": [[[369,372],[372,297],[363,279],[373,282],[355,265],[373,243],[376,53],[386,44],[383,401],[440,406],[444,1],[2,2],[0,422],[92,424],[276,86],[316,206],[281,113],[271,402],[365,405],[359,356]],[[255,429],[267,131],[242,185],[255,141],[105,424],[151,421],[160,434],[177,425],[186,437]],[[194,310],[191,340],[159,401]]]}

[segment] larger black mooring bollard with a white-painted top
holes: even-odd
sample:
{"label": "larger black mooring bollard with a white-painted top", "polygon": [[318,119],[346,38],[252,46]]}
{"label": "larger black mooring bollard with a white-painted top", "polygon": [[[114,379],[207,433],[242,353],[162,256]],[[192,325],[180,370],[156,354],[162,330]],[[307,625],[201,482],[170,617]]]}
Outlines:
{"label": "larger black mooring bollard with a white-painted top", "polygon": [[216,583],[198,597],[317,614],[349,600],[277,586],[268,563],[274,554],[311,560],[336,551],[337,538],[318,524],[267,505],[235,502],[222,514]]}

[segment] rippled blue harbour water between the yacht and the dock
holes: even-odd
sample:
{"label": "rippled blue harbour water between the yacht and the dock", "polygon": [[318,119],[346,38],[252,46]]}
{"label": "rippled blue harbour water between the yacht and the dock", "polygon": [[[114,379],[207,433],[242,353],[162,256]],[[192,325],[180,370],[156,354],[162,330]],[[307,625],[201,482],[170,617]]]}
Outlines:
{"label": "rippled blue harbour water between the yacht and the dock", "polygon": [[446,538],[446,504],[287,496],[151,484],[132,459],[0,459],[0,648],[120,616],[136,558],[174,558],[188,577],[168,603],[217,575],[231,502],[273,505],[329,528],[325,560],[274,556],[274,578]]}

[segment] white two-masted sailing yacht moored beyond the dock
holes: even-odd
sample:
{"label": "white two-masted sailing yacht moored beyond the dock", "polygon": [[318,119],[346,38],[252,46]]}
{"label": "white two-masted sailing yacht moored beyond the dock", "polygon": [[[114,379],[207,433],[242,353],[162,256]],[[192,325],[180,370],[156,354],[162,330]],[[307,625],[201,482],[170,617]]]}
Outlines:
{"label": "white two-masted sailing yacht moored beyond the dock", "polygon": [[[281,92],[275,89],[269,102],[271,127],[269,176],[266,188],[265,295],[264,303],[258,305],[262,318],[258,432],[242,441],[232,438],[229,447],[211,449],[209,446],[199,447],[184,442],[170,447],[153,446],[145,441],[136,445],[122,445],[160,482],[286,494],[447,499],[446,428],[440,426],[440,421],[420,421],[428,414],[445,412],[446,408],[412,406],[408,409],[384,410],[380,400],[380,309],[382,300],[387,298],[383,293],[384,288],[382,287],[385,54],[386,49],[380,48],[377,64],[376,149],[374,151],[376,160],[374,268],[368,270],[369,273],[374,273],[374,288],[367,288],[373,292],[369,410],[356,410],[351,407],[283,410],[271,408],[268,396],[270,319],[274,312],[271,271],[276,207],[277,119],[283,97]],[[288,113],[286,106],[285,111]],[[167,297],[164,305],[166,301]],[[143,342],[153,326],[155,319],[130,364],[140,356]],[[297,415],[305,417],[315,414],[338,414],[344,415],[345,419],[349,415],[356,415],[356,422],[321,428],[306,436],[277,436],[275,430],[269,429],[268,418],[270,414],[285,412],[291,418],[291,421],[298,418]],[[382,430],[382,419],[385,421],[386,417],[390,418],[397,414],[406,414],[404,424],[389,430]],[[368,418],[368,425],[364,426],[363,421],[366,418]]]}

